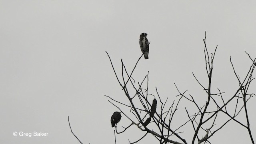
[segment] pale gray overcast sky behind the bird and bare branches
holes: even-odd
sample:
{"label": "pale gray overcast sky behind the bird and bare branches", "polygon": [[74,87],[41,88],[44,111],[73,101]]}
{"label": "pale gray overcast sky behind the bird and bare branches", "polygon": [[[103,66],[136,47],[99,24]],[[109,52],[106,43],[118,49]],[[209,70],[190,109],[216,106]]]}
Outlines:
{"label": "pale gray overcast sky behind the bird and bare branches", "polygon": [[[228,100],[238,88],[229,56],[242,78],[251,64],[244,51],[256,58],[255,8],[253,0],[0,0],[0,143],[78,143],[68,126],[70,116],[73,131],[84,144],[113,144],[110,116],[118,109],[104,94],[126,103],[127,98],[105,51],[118,76],[120,58],[131,72],[142,54],[138,42],[142,32],[148,33],[150,52],[149,59],[140,60],[134,71],[136,82],[149,71],[150,93],[156,94],[157,87],[171,104],[178,95],[175,82],[204,104],[206,95],[191,72],[207,84],[202,41],[206,31],[208,50],[214,52],[218,45],[212,90],[220,88]],[[251,92],[255,88],[254,81]],[[254,102],[255,97],[248,108],[256,136]],[[190,105],[185,104],[180,105],[177,122],[187,119],[184,106]],[[245,122],[243,114],[239,119]],[[123,116],[119,128],[129,124]],[[188,128],[181,136],[190,141],[192,127]],[[34,131],[48,132],[48,136],[13,136],[13,132]],[[116,135],[117,143],[133,142],[143,135],[133,126]],[[146,142],[157,141],[148,135],[140,143]],[[210,142],[250,140],[245,128],[230,122]]]}

